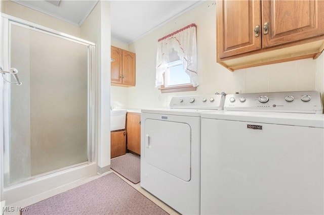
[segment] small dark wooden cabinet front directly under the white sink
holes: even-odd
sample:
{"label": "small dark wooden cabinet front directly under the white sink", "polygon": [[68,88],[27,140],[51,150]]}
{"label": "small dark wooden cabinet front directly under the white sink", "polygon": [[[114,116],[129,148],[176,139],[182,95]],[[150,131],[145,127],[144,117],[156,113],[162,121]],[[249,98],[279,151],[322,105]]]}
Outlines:
{"label": "small dark wooden cabinet front directly under the white sink", "polygon": [[126,154],[126,130],[110,132],[110,158]]}

